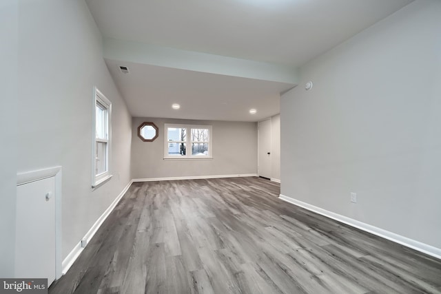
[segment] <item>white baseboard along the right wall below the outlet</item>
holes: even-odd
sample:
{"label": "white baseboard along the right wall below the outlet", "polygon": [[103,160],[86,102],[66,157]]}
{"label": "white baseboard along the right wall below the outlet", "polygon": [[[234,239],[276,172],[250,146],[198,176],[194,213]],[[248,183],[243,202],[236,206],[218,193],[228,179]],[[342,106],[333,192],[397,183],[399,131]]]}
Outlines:
{"label": "white baseboard along the right wall below the outlet", "polygon": [[360,222],[358,220],[353,220],[352,218],[348,218],[346,216],[342,216],[338,213],[334,213],[332,211],[327,211],[326,209],[322,209],[320,207],[316,207],[314,205],[308,204],[306,202],[302,202],[300,200],[296,200],[294,198],[290,198],[283,194],[280,194],[279,198],[291,204],[294,204],[298,207],[302,207],[309,211],[318,213],[322,216],[326,216],[327,218],[332,218],[333,220],[337,220],[338,222],[342,222],[344,224],[349,224],[351,227],[355,227],[362,231],[367,231],[368,233],[372,233],[373,235],[378,235],[387,240],[391,240],[398,244],[402,244],[411,249],[415,249],[416,251],[420,251],[422,253],[426,253],[428,255],[433,256],[434,258],[441,259],[441,249],[436,248],[434,246],[424,244],[422,242],[418,242],[416,240],[412,240],[410,238],[404,237],[402,235],[398,235],[396,233],[392,233],[390,231],[386,231],[384,229],[380,229],[378,227],[374,227],[370,224],[366,224],[365,222]]}

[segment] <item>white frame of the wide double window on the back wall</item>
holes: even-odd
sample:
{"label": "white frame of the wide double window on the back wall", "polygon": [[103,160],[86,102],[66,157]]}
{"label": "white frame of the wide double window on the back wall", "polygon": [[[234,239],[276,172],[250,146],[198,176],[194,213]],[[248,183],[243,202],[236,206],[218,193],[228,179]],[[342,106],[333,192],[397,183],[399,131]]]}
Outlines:
{"label": "white frame of the wide double window on the back wall", "polygon": [[[170,142],[168,141],[168,128],[174,127],[174,128],[181,128],[181,129],[187,129],[186,134],[187,138],[185,141],[178,141],[179,143],[185,143],[187,146],[187,150],[185,152],[185,155],[169,155],[168,154],[168,148]],[[208,129],[208,151],[207,156],[197,156],[192,155],[192,143],[198,143],[196,141],[192,141],[192,129]],[[173,141],[172,143],[176,143],[177,141]],[[205,142],[204,142],[205,143]],[[181,125],[181,124],[175,124],[175,123],[165,123],[164,124],[164,159],[176,159],[176,160],[210,160],[213,159],[213,129],[211,125]]]}

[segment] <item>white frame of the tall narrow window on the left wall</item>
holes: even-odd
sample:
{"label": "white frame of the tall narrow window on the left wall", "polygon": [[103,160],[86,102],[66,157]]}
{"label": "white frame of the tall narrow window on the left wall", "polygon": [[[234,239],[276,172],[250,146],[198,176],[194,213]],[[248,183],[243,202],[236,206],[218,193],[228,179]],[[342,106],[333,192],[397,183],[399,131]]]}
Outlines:
{"label": "white frame of the tall narrow window on the left wall", "polygon": [[[105,109],[107,109],[107,118],[105,118],[104,121],[105,129],[107,129],[107,134],[105,138],[97,138],[96,134],[96,107],[98,105],[101,105],[102,107],[105,107]],[[112,103],[96,87],[94,87],[92,114],[92,187],[97,187],[103,184],[103,182],[112,178],[112,175],[110,174],[110,158],[112,154]],[[106,143],[106,170],[101,174],[97,174],[96,171],[96,143],[98,142]]]}

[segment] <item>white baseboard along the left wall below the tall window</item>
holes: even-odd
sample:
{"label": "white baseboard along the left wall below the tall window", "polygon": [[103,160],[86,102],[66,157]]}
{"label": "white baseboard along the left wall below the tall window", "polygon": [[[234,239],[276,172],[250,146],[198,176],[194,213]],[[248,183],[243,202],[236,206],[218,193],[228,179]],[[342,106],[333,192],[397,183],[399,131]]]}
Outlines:
{"label": "white baseboard along the left wall below the tall window", "polygon": [[[130,181],[127,184],[127,186],[125,186],[123,191],[121,191],[121,193],[119,193],[119,196],[116,197],[115,200],[113,200],[112,204],[110,204],[110,206],[107,207],[107,209],[104,211],[104,213],[98,218],[98,220],[96,220],[96,222],[90,228],[88,233],[86,233],[85,236],[83,237],[83,239],[81,239],[81,240],[85,240],[88,243],[92,239],[92,237],[95,235],[96,231],[98,231],[99,227],[101,227],[101,224],[103,224],[103,222],[107,218],[107,216],[109,216],[110,213],[113,211],[113,209],[116,207],[116,204],[118,204],[119,200],[121,200],[121,198],[123,198],[125,192],[127,192],[130,185],[132,185],[132,182],[133,181]],[[66,256],[66,258],[63,260],[63,264],[61,265],[61,267],[63,269],[63,271],[62,271],[63,275],[68,272],[68,270],[70,269],[70,266],[72,266],[72,264],[74,264],[76,258],[78,258],[80,253],[83,251],[84,248],[81,247],[81,240],[80,240],[80,242],[78,242],[78,244],[76,244],[76,246],[74,246],[74,249],[72,249],[72,251],[70,251],[68,256]]]}

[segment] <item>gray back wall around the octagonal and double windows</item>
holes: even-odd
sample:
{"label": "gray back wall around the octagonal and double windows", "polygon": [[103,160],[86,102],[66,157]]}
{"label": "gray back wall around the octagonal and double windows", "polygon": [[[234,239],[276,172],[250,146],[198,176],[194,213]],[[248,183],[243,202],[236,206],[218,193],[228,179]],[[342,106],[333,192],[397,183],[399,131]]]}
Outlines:
{"label": "gray back wall around the octagonal and double windows", "polygon": [[[141,123],[151,121],[159,128],[154,142],[143,142],[136,132]],[[212,160],[164,160],[164,124],[212,125]],[[132,177],[170,178],[256,174],[257,124],[227,121],[178,120],[167,118],[132,119]]]}

